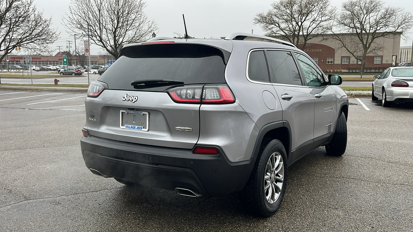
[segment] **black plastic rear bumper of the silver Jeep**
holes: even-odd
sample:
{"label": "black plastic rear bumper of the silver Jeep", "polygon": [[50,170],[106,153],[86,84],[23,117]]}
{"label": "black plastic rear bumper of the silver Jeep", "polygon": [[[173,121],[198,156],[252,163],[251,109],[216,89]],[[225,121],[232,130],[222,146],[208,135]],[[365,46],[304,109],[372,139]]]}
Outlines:
{"label": "black plastic rear bumper of the silver Jeep", "polygon": [[204,196],[225,196],[241,191],[255,159],[231,163],[221,148],[218,155],[193,154],[190,149],[146,146],[99,137],[82,137],[88,168],[107,177],[174,190],[192,189]]}

